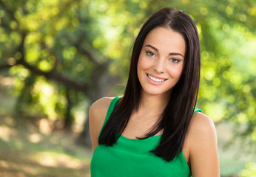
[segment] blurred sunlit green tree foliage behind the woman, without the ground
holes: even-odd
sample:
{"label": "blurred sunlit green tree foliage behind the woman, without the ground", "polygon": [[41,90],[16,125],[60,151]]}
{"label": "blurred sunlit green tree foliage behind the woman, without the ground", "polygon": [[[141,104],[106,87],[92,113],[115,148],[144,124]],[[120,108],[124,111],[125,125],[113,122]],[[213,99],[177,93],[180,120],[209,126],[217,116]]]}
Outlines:
{"label": "blurred sunlit green tree foliage behind the woman, without the ground", "polygon": [[0,69],[15,81],[17,111],[63,119],[67,108],[74,117],[78,105],[86,110],[98,97],[121,94],[124,86],[116,84],[126,83],[138,30],[167,6],[198,27],[198,108],[215,122],[243,125],[239,135],[255,145],[254,0],[0,0]]}

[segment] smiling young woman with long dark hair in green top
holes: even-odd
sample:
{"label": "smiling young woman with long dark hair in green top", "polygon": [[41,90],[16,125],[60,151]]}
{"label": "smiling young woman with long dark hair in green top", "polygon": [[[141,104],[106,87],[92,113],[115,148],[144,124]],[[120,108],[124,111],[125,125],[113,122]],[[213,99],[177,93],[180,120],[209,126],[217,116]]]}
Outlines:
{"label": "smiling young woman with long dark hair in green top", "polygon": [[212,120],[195,109],[200,80],[195,23],[164,8],[141,28],[123,97],[90,107],[91,176],[219,176]]}

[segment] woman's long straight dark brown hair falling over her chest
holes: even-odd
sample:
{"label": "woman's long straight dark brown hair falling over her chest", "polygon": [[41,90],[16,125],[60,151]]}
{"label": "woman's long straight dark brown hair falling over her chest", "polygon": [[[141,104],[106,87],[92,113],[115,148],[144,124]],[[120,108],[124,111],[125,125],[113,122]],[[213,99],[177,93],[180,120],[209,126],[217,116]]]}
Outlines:
{"label": "woman's long straight dark brown hair falling over her chest", "polygon": [[143,25],[132,50],[127,87],[124,97],[115,106],[107,123],[101,131],[98,142],[100,145],[113,145],[129,121],[132,111],[137,111],[141,99],[141,84],[138,80],[138,57],[146,35],[155,27],[166,27],[181,33],[186,42],[185,63],[180,80],[173,87],[161,119],[143,138],[154,136],[164,130],[161,141],[152,153],[170,162],[181,153],[186,131],[197,103],[201,56],[198,30],[194,21],[181,10],[166,7],[153,14]]}

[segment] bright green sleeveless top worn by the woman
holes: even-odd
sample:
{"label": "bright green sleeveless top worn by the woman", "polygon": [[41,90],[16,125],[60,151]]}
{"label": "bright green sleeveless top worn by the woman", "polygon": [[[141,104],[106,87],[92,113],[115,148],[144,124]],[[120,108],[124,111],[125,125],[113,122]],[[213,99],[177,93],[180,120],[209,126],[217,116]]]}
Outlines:
{"label": "bright green sleeveless top worn by the woman", "polygon": [[[111,101],[104,125],[119,99],[115,97]],[[171,162],[150,152],[160,139],[161,135],[147,139],[128,139],[121,135],[112,146],[98,145],[92,155],[91,177],[191,177],[182,150]]]}

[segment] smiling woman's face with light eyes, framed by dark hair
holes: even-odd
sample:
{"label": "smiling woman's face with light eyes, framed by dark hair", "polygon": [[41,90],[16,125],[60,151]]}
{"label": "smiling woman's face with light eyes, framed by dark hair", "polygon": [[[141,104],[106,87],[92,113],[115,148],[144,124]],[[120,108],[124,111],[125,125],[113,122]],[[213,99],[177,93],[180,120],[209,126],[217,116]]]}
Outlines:
{"label": "smiling woman's face with light eyes, framed by dark hair", "polygon": [[169,95],[181,77],[186,44],[169,28],[155,27],[146,35],[138,58],[138,80],[146,94]]}

